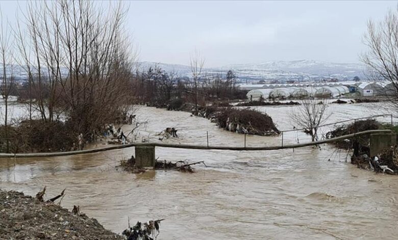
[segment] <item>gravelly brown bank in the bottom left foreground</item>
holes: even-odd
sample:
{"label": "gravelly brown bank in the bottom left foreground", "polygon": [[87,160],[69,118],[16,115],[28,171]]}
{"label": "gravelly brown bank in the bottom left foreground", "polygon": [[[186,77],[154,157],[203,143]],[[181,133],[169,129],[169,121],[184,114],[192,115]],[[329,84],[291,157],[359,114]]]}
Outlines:
{"label": "gravelly brown bank in the bottom left foreground", "polygon": [[125,239],[83,213],[0,189],[0,239]]}

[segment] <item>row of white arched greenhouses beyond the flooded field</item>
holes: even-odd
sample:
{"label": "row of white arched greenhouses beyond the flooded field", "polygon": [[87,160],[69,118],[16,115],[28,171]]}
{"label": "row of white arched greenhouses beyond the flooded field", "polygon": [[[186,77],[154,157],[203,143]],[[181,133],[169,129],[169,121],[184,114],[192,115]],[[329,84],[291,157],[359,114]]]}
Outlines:
{"label": "row of white arched greenhouses beyond the flooded field", "polygon": [[345,86],[322,86],[322,87],[285,87],[285,88],[265,88],[254,89],[247,92],[247,99],[258,100],[278,99],[278,98],[336,98],[350,92]]}

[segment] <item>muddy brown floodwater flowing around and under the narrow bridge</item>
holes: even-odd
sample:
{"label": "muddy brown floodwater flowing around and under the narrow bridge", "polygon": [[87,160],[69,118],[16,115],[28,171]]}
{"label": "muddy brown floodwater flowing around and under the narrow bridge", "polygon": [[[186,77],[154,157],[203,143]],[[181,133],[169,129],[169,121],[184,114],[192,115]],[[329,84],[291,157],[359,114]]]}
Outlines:
{"label": "muddy brown floodwater flowing around and under the narrow bridge", "polygon": [[[383,112],[383,104],[333,105],[329,122]],[[295,106],[257,107],[280,129],[291,129]],[[218,129],[186,112],[141,107],[148,120],[137,138],[151,140],[165,127],[181,139],[166,142],[243,146],[243,135]],[[395,121],[396,119],[394,119]],[[381,121],[388,122],[389,118]],[[123,126],[125,132],[131,126]],[[325,133],[327,129],[322,130]],[[308,141],[286,133],[284,141]],[[247,146],[273,146],[281,137],[247,136]],[[98,144],[97,147],[101,147]],[[95,147],[95,146],[93,146]],[[0,159],[0,188],[47,196],[66,188],[62,205],[80,209],[120,233],[131,222],[166,219],[158,239],[396,239],[398,177],[357,169],[330,146],[279,151],[201,151],[157,148],[167,160],[205,160],[194,174],[133,175],[115,169],[134,148],[57,158]],[[330,161],[328,161],[330,159]]]}

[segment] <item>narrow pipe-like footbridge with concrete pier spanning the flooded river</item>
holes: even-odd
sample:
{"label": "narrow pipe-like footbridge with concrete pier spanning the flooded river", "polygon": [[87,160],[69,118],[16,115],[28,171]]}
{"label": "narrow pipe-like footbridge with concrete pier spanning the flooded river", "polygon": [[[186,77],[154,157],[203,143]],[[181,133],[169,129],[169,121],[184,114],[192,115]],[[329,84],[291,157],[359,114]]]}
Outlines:
{"label": "narrow pipe-like footbridge with concrete pier spanning the flooded river", "polygon": [[228,150],[228,151],[266,151],[266,150],[281,150],[281,149],[295,149],[309,146],[321,145],[328,142],[334,142],[349,138],[356,138],[359,136],[368,135],[370,138],[370,157],[374,157],[380,153],[386,147],[390,147],[396,143],[396,133],[391,130],[367,130],[363,132],[357,132],[344,136],[298,143],[292,145],[281,145],[281,146],[264,146],[264,147],[225,147],[225,146],[201,146],[201,145],[183,145],[183,144],[167,144],[167,143],[129,143],[126,145],[110,146],[104,148],[87,149],[81,151],[70,151],[70,152],[54,152],[54,153],[0,153],[0,158],[30,158],[30,157],[58,157],[58,156],[70,156],[87,153],[97,153],[116,149],[131,148],[135,147],[135,158],[137,166],[141,167],[153,167],[155,166],[155,148],[179,148],[179,149],[197,149],[197,150]]}

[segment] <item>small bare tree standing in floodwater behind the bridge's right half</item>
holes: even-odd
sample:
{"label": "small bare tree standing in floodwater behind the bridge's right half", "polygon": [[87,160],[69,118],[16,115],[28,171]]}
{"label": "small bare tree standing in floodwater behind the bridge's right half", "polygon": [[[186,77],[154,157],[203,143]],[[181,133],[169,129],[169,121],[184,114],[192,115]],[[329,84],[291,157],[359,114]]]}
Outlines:
{"label": "small bare tree standing in floodwater behind the bridge's right half", "polygon": [[311,136],[311,141],[318,140],[319,126],[330,117],[328,105],[317,103],[316,100],[305,99],[301,105],[290,112],[290,120],[299,128],[304,128],[305,133]]}

